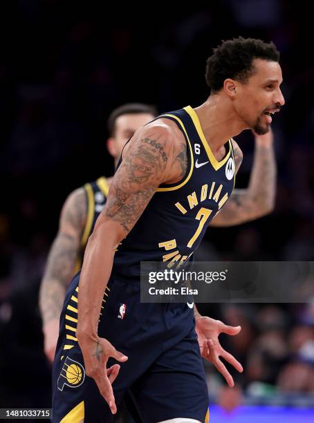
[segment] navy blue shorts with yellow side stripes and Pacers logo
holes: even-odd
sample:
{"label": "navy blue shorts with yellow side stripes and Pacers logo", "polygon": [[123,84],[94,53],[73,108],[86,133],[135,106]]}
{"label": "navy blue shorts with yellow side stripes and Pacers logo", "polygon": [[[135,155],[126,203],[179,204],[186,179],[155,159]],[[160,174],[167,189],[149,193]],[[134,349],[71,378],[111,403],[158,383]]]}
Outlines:
{"label": "navy blue shorts with yellow side stripes and Pacers logo", "polygon": [[[53,422],[113,421],[98,386],[86,376],[75,338],[80,274],[68,288],[53,364]],[[140,283],[112,281],[98,335],[129,357],[113,382],[116,405],[132,397],[143,423],[175,417],[205,421],[207,386],[194,313],[186,303],[140,303]],[[108,367],[116,363],[110,359]]]}

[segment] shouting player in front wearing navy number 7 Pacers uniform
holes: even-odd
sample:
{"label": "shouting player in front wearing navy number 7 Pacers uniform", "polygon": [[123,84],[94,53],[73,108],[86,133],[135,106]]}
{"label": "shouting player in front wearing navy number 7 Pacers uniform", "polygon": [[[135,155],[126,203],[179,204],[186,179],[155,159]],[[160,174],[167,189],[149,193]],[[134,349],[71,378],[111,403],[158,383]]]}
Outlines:
{"label": "shouting player in front wearing navy number 7 Pacers uniform", "polygon": [[[224,41],[207,61],[205,103],[161,115],[127,143],[66,294],[54,422],[111,422],[128,389],[143,422],[203,422],[208,398],[195,329],[203,356],[223,375],[219,355],[241,370],[218,346],[211,319],[194,321],[186,304],[140,303],[140,261],[183,265],[201,242],[234,187],[241,151],[232,136],[266,133],[284,104],[278,59],[273,44]],[[122,363],[114,395],[104,371],[112,358]]]}

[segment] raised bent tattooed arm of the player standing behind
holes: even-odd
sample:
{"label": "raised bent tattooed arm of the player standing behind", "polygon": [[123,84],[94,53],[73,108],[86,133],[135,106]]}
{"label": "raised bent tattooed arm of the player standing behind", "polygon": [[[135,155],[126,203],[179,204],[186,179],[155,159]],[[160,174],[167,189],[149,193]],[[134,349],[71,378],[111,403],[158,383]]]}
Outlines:
{"label": "raised bent tattooed arm of the player standing behind", "polygon": [[[239,147],[234,146],[234,160]],[[239,155],[237,155],[239,157]],[[273,133],[255,135],[255,157],[247,189],[234,189],[221,212],[212,220],[211,226],[239,225],[265,216],[274,209],[276,192],[276,162],[273,149]]]}

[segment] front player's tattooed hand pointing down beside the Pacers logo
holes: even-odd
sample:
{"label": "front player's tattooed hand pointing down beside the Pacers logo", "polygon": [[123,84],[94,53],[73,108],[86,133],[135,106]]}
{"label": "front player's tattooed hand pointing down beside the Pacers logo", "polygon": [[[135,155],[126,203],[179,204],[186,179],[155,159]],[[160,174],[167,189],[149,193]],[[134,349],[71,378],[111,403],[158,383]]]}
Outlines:
{"label": "front player's tattooed hand pointing down beside the Pacers logo", "polygon": [[107,339],[99,337],[94,339],[87,335],[81,335],[77,337],[77,340],[82,350],[86,375],[95,380],[100,394],[111,409],[111,413],[116,414],[117,407],[111,384],[118,376],[120,366],[114,364],[107,369],[107,361],[109,357],[113,357],[117,361],[124,362],[127,361],[128,357],[117,351]]}

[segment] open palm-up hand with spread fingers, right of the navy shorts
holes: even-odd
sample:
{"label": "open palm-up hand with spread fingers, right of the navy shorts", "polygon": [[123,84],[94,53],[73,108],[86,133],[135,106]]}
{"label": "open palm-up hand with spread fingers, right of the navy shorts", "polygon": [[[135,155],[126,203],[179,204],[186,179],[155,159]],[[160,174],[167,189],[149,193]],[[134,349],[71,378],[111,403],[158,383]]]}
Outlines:
{"label": "open palm-up hand with spread fingers, right of the navy shorts", "polygon": [[232,388],[232,386],[234,386],[233,378],[219,357],[223,357],[223,359],[234,366],[238,372],[243,372],[243,367],[233,355],[227,353],[227,351],[222,348],[218,337],[221,333],[237,335],[241,330],[241,326],[228,326],[222,321],[211,319],[210,317],[199,316],[196,319],[195,330],[202,357],[214,364],[216,369],[223,375],[230,388]]}

